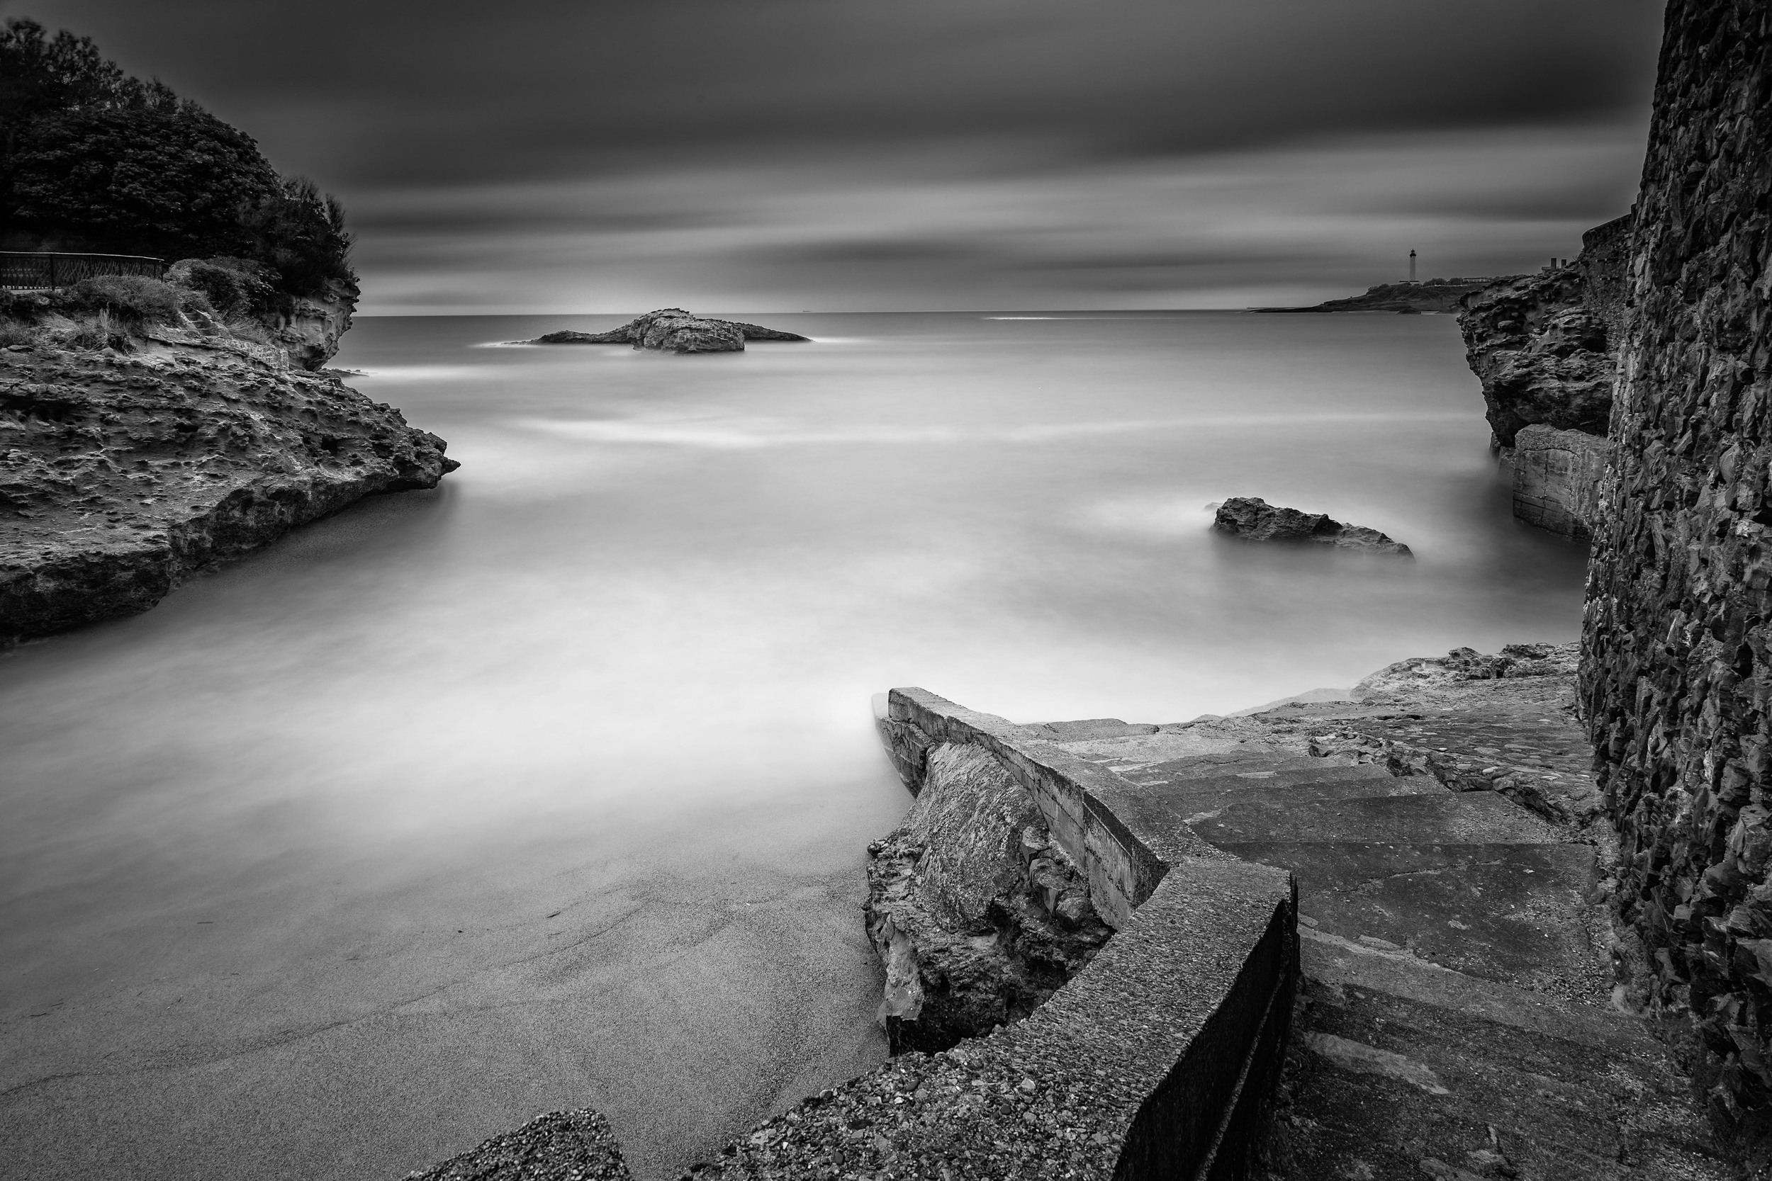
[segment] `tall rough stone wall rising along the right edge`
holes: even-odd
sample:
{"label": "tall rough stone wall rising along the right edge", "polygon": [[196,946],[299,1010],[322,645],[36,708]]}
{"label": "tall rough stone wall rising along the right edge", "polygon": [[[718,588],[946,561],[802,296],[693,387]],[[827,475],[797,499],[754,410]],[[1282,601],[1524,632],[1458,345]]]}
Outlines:
{"label": "tall rough stone wall rising along the right edge", "polygon": [[1637,999],[1772,1126],[1772,9],[1671,0],[1582,694]]}

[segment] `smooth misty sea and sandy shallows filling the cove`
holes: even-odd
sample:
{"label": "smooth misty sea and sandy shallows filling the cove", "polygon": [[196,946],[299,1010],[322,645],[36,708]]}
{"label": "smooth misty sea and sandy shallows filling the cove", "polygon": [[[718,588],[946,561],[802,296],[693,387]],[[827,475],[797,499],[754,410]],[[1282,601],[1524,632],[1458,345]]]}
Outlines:
{"label": "smooth misty sea and sandy shallows filling the cove", "polygon": [[590,1103],[672,1176],[882,1057],[870,694],[1166,722],[1577,634],[1449,317],[739,319],[817,343],[360,320],[461,471],[0,659],[0,1174],[397,1177]]}

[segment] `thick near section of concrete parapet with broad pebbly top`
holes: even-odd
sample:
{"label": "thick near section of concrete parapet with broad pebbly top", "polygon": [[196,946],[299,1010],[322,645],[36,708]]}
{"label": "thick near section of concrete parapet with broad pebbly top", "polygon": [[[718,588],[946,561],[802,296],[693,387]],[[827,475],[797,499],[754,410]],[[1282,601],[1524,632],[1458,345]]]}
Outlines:
{"label": "thick near section of concrete parapet with broad pebbly top", "polygon": [[695,1176],[1237,1181],[1278,1080],[1295,967],[1290,875],[1189,859],[1024,1022],[900,1055]]}

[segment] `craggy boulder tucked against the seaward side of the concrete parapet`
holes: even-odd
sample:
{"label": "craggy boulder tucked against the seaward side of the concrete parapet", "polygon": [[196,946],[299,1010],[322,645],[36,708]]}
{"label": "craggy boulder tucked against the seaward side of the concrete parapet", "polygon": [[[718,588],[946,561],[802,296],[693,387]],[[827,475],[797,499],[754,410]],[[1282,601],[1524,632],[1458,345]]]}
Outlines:
{"label": "craggy boulder tucked against the seaward side of the concrete parapet", "polygon": [[1113,933],[1033,797],[985,751],[929,751],[904,823],[868,846],[868,937],[893,1054],[1021,1020]]}

